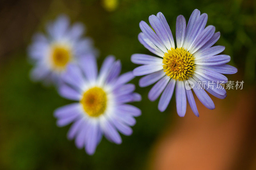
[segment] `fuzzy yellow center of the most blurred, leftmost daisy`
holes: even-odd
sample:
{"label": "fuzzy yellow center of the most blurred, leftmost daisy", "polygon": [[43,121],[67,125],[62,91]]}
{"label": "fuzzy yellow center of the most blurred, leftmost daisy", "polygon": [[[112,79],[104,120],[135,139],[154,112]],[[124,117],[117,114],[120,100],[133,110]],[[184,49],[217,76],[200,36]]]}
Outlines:
{"label": "fuzzy yellow center of the most blurred, leftmost daisy", "polygon": [[54,69],[64,70],[71,58],[71,50],[67,46],[54,45],[52,47],[52,63]]}

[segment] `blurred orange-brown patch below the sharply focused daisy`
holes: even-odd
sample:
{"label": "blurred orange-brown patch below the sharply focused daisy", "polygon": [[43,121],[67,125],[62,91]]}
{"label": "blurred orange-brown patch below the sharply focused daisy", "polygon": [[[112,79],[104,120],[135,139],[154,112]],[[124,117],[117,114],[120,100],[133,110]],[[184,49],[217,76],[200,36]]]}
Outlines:
{"label": "blurred orange-brown patch below the sharply focused daisy", "polygon": [[196,100],[199,118],[188,107],[175,128],[156,143],[151,169],[256,169],[255,88],[230,90],[209,110]]}

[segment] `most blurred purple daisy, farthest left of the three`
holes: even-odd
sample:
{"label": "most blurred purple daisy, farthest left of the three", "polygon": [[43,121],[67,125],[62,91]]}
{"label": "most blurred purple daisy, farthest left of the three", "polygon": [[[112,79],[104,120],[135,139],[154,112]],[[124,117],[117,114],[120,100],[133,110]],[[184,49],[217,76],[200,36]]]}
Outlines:
{"label": "most blurred purple daisy, farthest left of the three", "polygon": [[60,15],[46,26],[47,35],[36,33],[28,48],[29,57],[35,62],[31,79],[44,83],[58,83],[69,63],[77,63],[87,54],[95,54],[90,38],[82,37],[84,25],[70,25],[66,15]]}

